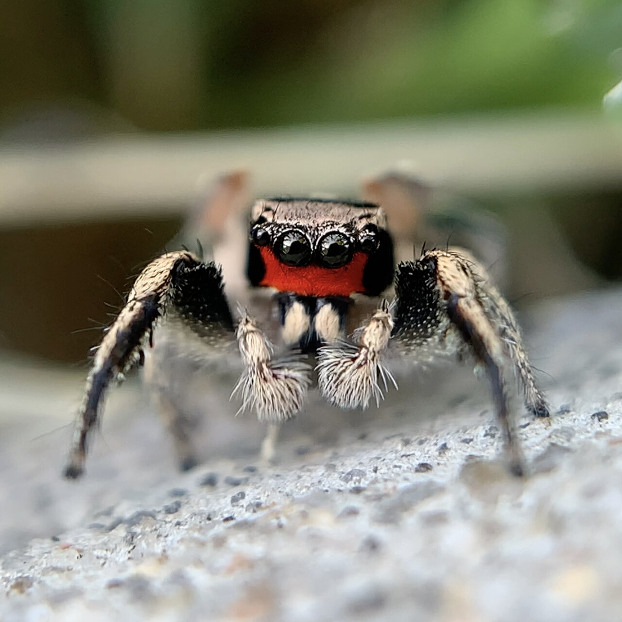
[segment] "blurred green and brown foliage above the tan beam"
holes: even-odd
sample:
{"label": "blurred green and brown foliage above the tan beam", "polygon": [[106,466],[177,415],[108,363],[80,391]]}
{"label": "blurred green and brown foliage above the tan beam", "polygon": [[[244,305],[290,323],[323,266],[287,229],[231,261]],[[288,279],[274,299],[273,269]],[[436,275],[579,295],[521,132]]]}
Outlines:
{"label": "blurred green and brown foliage above the tan beam", "polygon": [[2,23],[5,122],[52,101],[78,134],[596,108],[622,77],[616,0],[21,0]]}

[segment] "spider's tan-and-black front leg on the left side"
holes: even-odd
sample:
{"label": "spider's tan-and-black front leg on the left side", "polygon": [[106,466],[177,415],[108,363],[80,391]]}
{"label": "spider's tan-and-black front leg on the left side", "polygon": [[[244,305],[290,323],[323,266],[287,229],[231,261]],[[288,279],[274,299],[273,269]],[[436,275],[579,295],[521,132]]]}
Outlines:
{"label": "spider's tan-and-black front leg on the left side", "polygon": [[128,301],[108,328],[86,379],[85,396],[78,411],[65,477],[77,478],[84,470],[88,440],[100,420],[109,384],[144,362],[144,350],[154,345],[160,318],[177,317],[198,335],[211,341],[233,335],[233,321],[223,294],[220,269],[204,264],[192,253],[166,253],[141,272]]}

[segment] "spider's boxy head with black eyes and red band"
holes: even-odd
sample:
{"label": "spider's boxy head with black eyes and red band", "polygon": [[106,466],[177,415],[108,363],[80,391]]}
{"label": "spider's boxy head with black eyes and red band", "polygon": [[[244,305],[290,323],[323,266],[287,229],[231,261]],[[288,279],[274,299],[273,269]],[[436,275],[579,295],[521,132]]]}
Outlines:
{"label": "spider's boxy head with black eyes and red band", "polygon": [[300,296],[374,296],[393,280],[393,243],[374,203],[273,198],[251,210],[247,276]]}

